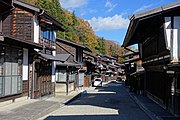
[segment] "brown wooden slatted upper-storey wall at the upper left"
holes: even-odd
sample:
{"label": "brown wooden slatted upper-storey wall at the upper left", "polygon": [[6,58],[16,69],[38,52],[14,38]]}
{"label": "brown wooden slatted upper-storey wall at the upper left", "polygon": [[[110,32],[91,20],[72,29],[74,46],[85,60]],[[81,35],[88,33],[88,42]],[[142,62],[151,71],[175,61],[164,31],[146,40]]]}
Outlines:
{"label": "brown wooden slatted upper-storey wall at the upper left", "polygon": [[15,8],[3,22],[3,33],[6,36],[33,43],[33,25],[33,13]]}

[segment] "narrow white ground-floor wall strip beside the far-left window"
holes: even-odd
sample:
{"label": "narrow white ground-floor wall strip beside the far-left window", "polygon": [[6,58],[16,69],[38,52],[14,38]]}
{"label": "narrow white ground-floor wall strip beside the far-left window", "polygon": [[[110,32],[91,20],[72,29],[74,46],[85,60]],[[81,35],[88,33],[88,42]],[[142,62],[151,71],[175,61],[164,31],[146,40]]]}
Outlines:
{"label": "narrow white ground-floor wall strip beside the far-left window", "polygon": [[22,69],[22,79],[28,80],[28,72],[29,66],[28,66],[28,49],[23,49],[23,69]]}

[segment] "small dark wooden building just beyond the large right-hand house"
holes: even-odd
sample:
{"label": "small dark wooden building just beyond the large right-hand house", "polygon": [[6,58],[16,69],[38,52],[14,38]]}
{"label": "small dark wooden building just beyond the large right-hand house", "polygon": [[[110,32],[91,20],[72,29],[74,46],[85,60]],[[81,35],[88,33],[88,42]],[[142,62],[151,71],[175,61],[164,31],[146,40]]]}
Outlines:
{"label": "small dark wooden building just beyond the large right-hand house", "polygon": [[143,94],[144,92],[144,68],[139,58],[139,52],[130,51],[123,58],[125,61],[125,85],[129,86],[130,91]]}

